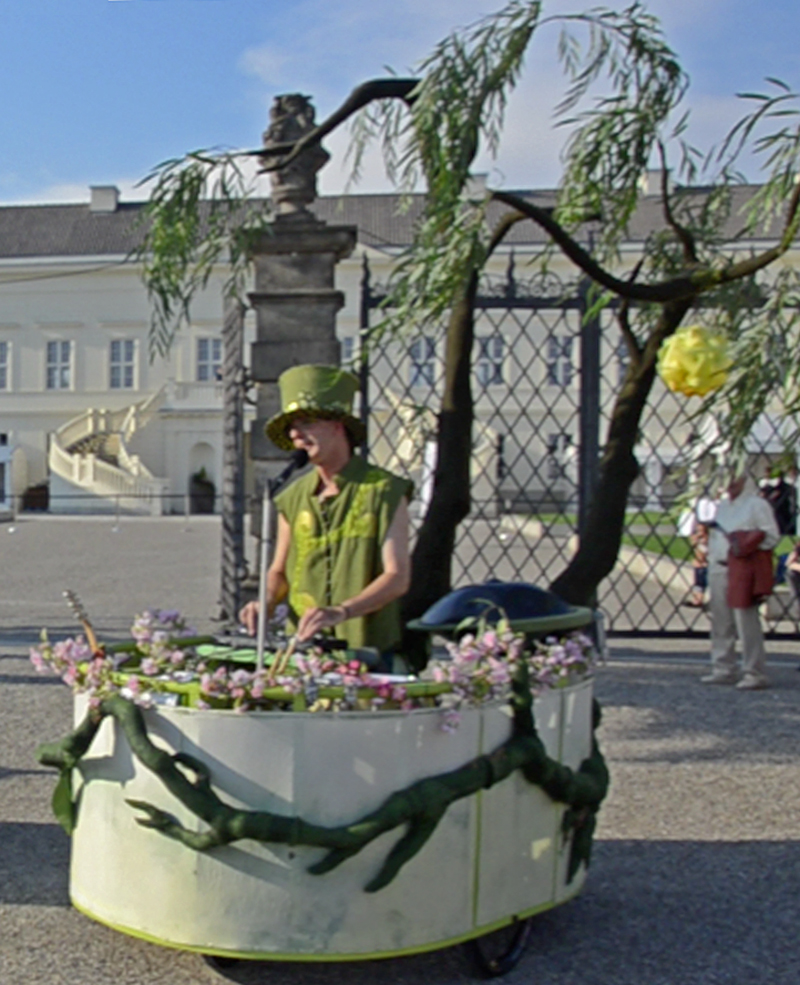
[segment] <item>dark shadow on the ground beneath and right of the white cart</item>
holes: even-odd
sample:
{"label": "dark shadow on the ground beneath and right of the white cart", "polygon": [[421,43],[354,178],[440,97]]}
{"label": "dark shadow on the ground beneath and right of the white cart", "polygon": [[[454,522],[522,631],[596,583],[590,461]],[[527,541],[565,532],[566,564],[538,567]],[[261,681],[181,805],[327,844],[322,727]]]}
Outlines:
{"label": "dark shadow on the ground beneath and right of the white cart", "polygon": [[[800,980],[799,881],[795,842],[600,842],[583,895],[535,918],[531,945],[504,980],[794,985]],[[241,961],[213,974],[239,985],[327,985],[332,976],[343,977],[336,967]],[[346,980],[373,985],[474,976],[464,949],[455,947],[352,962]]]}

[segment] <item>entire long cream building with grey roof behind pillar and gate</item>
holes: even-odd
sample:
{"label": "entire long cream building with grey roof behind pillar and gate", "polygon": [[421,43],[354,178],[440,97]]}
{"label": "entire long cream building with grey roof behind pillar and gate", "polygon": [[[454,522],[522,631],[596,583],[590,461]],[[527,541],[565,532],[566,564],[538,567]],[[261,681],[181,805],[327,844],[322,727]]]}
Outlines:
{"label": "entire long cream building with grey roof behind pillar and gate", "polygon": [[[743,188],[737,195],[751,193]],[[545,205],[553,198],[525,194]],[[385,283],[410,242],[421,200],[405,212],[398,204],[395,195],[349,195],[314,206],[329,224],[358,229],[356,251],[337,268],[346,299],[337,322],[344,362],[358,348],[364,258],[373,282]],[[48,484],[54,511],[183,512],[193,475],[220,487],[222,273],[197,297],[191,325],[169,357],[151,362],[150,305],[138,264],[127,260],[141,207],[120,202],[113,187],[97,187],[89,204],[0,208],[0,509],[12,497],[35,505]],[[658,199],[646,196],[625,250],[631,259],[661,221]],[[516,280],[524,282],[531,276],[527,261],[543,245],[533,223],[518,224],[493,258],[490,278],[507,277],[513,251]],[[575,278],[564,261],[554,269]],[[479,317],[477,499],[524,508],[526,500],[566,499],[574,490],[578,325],[574,311],[542,312],[531,332],[513,318]],[[253,332],[248,321],[248,341]],[[246,345],[246,358],[248,352]],[[607,407],[626,359],[610,319],[601,359]],[[421,486],[431,465],[433,384],[442,366],[441,341],[411,333],[376,365],[371,387],[373,456],[395,467],[402,460]],[[691,431],[682,398],[668,395],[661,406],[643,444],[653,450],[649,459],[645,454],[651,488],[666,482],[669,462]],[[383,437],[381,424],[389,429]]]}

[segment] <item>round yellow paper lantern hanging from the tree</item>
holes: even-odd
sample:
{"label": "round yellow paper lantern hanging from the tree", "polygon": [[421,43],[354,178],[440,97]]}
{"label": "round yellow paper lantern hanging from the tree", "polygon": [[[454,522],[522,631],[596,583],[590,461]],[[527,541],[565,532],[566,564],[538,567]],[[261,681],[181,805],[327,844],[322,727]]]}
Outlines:
{"label": "round yellow paper lantern hanging from the tree", "polygon": [[658,375],[673,393],[705,397],[718,390],[731,367],[728,339],[702,325],[685,325],[658,352]]}

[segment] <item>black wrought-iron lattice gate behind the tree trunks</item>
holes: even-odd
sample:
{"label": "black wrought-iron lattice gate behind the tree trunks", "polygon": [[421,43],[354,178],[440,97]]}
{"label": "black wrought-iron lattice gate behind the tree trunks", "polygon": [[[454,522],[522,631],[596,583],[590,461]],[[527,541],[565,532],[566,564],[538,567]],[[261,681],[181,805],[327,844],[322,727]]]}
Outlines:
{"label": "black wrought-iron lattice gate behind the tree trunks", "polygon": [[[378,337],[373,312],[386,295],[371,284],[366,259],[361,291],[360,336],[347,341],[343,362],[361,374],[370,458],[414,480],[418,523],[435,466],[444,329]],[[503,279],[482,284],[473,350],[473,507],[458,532],[455,587],[488,578],[546,586],[574,553],[628,360],[613,313],[587,320],[586,311],[580,284],[552,276],[520,282],[513,255]],[[641,422],[641,472],[623,544],[598,589],[615,635],[708,633],[705,609],[687,605],[694,581],[687,449],[696,451],[702,440],[693,410],[656,380]],[[779,421],[765,421],[752,437],[758,475],[787,464],[779,430]],[[785,538],[778,552],[788,545]],[[771,634],[798,635],[800,614],[785,585],[765,615]]]}

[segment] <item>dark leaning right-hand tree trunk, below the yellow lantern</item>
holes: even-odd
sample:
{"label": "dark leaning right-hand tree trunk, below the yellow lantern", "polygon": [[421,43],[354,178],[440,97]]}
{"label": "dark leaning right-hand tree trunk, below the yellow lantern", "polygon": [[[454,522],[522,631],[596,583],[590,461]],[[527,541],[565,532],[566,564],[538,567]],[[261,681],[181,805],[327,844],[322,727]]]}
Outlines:
{"label": "dark leaning right-hand tree trunk, below the yellow lantern", "polygon": [[637,360],[631,360],[625,382],[614,403],[600,476],[589,507],[577,553],[550,590],[573,605],[595,604],[597,586],[617,561],[628,493],[639,463],[634,448],[639,438],[642,411],[650,396],[658,350],[680,325],[692,299],[665,305],[655,330]]}

